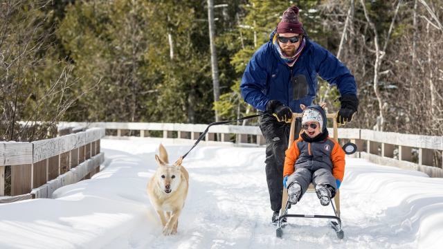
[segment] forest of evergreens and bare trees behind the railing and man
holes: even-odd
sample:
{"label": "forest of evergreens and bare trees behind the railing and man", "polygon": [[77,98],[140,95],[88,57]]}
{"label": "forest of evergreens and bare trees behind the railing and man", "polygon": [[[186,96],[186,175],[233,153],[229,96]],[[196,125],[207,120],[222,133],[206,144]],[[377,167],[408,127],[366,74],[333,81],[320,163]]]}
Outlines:
{"label": "forest of evergreens and bare trees behind the railing and man", "polygon": [[[293,4],[309,39],[356,79],[359,111],[345,127],[443,135],[442,0],[214,4],[217,103],[206,0],[3,0],[0,140],[56,136],[59,121],[208,124],[215,110],[222,120],[254,113],[242,73]],[[318,80],[314,103],[338,111],[338,91]]]}

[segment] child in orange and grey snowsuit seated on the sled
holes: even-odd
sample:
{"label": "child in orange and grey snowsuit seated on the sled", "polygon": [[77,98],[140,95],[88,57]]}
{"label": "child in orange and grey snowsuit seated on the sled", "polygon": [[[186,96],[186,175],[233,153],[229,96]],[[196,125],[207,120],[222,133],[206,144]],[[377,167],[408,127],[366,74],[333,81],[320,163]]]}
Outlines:
{"label": "child in orange and grey snowsuit seated on the sled", "polygon": [[295,205],[313,183],[321,205],[329,205],[340,187],[345,174],[345,151],[338,142],[329,138],[326,113],[321,106],[300,107],[302,132],[286,151],[283,185],[288,190],[289,203]]}

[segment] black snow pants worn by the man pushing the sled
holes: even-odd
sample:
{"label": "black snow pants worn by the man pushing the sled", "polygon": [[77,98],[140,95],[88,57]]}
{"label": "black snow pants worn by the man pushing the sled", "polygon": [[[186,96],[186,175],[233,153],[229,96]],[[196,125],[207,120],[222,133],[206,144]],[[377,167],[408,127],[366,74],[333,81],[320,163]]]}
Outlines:
{"label": "black snow pants worn by the man pushing the sled", "polygon": [[[277,118],[269,113],[260,116],[258,123],[266,141],[266,160],[264,160],[264,163],[266,163],[266,181],[268,183],[269,199],[271,200],[271,210],[278,211],[282,208],[284,151],[288,149],[291,124],[278,122]],[[300,130],[301,120],[297,118],[294,140],[298,139]]]}

